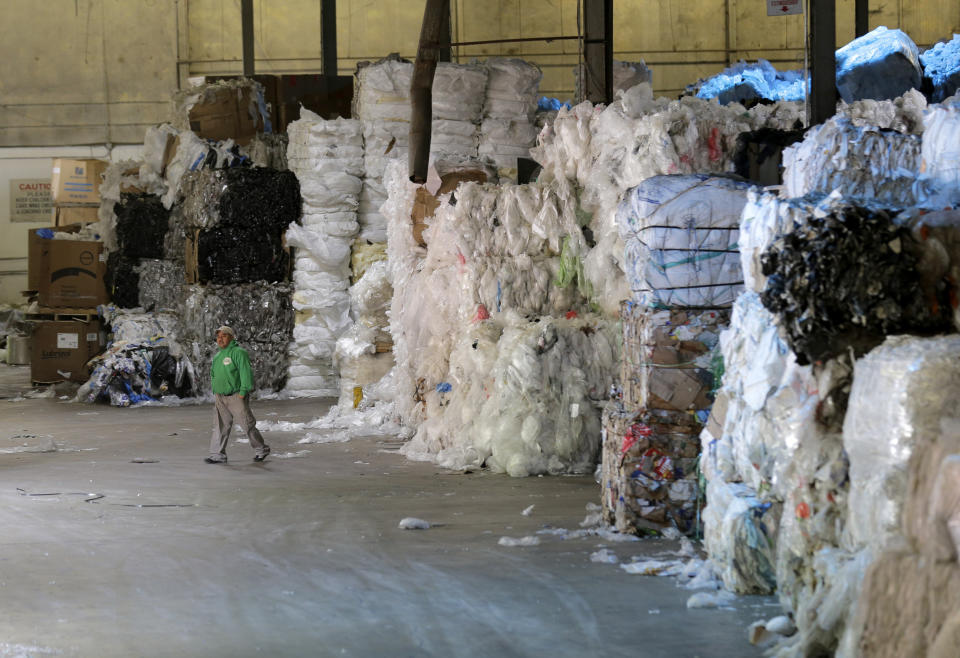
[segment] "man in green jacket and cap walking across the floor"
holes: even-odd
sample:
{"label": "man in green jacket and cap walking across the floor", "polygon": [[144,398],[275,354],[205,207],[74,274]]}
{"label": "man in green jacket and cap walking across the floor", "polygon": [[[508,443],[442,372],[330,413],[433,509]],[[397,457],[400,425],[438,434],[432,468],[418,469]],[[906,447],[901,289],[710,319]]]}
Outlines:
{"label": "man in green jacket and cap walking across the floor", "polygon": [[236,334],[230,327],[217,329],[217,345],[220,351],[213,357],[210,368],[210,381],[216,399],[213,437],[210,439],[210,456],[203,461],[208,464],[227,463],[227,441],[236,417],[250,439],[250,447],[255,453],[253,461],[262,462],[270,454],[270,446],[263,442],[257,429],[257,419],[250,411],[250,391],[253,390],[250,355],[237,344]]}

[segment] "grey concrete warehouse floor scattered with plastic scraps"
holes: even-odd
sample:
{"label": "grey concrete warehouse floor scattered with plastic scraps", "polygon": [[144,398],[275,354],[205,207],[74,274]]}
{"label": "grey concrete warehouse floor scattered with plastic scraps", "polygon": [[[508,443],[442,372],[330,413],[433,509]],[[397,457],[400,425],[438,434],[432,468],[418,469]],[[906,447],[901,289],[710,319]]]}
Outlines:
{"label": "grey concrete warehouse floor scattered with plastic scraps", "polygon": [[[22,375],[0,366],[0,396]],[[303,421],[325,405],[253,409]],[[274,455],[310,452],[255,464],[231,441],[229,465],[211,466],[211,423],[210,405],[0,399],[0,657],[742,657],[762,655],[747,625],[779,614],[770,597],[688,610],[674,578],[589,557],[673,541],[497,544],[578,529],[592,478],[465,475],[374,438],[279,432]],[[46,435],[57,451],[12,452]],[[400,530],[408,516],[435,527]]]}

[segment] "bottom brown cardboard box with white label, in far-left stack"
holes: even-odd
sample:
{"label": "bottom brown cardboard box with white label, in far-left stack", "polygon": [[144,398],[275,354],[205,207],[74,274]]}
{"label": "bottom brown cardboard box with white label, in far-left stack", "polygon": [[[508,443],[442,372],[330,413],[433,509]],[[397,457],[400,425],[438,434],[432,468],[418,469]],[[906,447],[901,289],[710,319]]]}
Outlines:
{"label": "bottom brown cardboard box with white label, in far-left stack", "polygon": [[106,343],[99,320],[38,322],[32,340],[30,378],[43,383],[87,381],[87,361]]}

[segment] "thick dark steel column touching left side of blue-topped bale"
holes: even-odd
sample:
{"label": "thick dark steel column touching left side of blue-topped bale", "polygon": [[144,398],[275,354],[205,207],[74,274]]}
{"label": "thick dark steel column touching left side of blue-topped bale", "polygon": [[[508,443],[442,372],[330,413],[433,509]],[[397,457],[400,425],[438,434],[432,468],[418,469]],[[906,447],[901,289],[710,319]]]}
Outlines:
{"label": "thick dark steel column touching left side of blue-topped bale", "polygon": [[823,123],[837,111],[837,4],[810,0],[809,125]]}

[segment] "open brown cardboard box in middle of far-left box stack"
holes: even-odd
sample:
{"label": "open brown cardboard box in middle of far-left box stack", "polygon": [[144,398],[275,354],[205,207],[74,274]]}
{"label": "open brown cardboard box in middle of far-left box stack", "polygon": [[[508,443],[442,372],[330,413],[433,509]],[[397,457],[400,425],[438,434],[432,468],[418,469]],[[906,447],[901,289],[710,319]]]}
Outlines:
{"label": "open brown cardboard box in middle of far-left box stack", "polygon": [[[77,232],[80,224],[58,230]],[[39,292],[40,306],[96,308],[109,301],[104,285],[107,263],[102,242],[52,240],[29,231],[27,284]]]}

